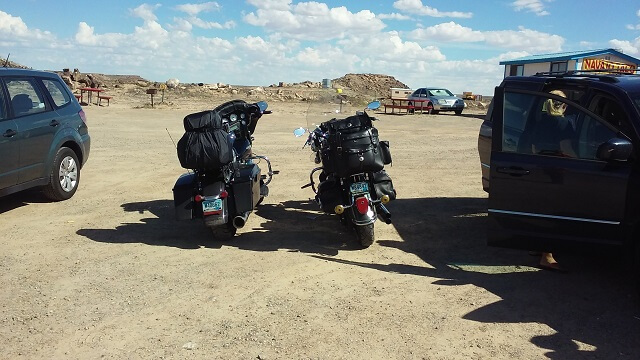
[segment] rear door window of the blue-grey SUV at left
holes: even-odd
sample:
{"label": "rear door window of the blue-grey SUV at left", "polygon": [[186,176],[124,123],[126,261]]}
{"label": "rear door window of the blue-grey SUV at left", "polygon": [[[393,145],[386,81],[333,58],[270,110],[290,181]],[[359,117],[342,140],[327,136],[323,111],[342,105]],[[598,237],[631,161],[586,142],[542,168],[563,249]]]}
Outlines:
{"label": "rear door window of the blue-grey SUV at left", "polygon": [[35,79],[7,78],[5,83],[11,99],[11,108],[16,117],[46,111],[44,97],[38,90]]}

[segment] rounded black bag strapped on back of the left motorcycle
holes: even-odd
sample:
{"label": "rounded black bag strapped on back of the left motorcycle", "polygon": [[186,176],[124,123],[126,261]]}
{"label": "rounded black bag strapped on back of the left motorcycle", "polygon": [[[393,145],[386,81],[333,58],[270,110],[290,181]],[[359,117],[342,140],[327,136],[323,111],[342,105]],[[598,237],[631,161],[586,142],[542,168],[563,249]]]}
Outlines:
{"label": "rounded black bag strapped on back of the left motorcycle", "polygon": [[178,141],[178,160],[185,169],[216,170],[233,160],[219,112],[202,111],[184,118],[185,133]]}

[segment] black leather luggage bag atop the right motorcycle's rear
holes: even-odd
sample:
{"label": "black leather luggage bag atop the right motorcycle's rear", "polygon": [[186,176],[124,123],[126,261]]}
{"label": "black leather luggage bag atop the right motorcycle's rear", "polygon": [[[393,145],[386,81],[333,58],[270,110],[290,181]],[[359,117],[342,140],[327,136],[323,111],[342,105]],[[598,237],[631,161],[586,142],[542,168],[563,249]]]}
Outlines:
{"label": "black leather luggage bag atop the right motorcycle's rear", "polygon": [[378,129],[372,127],[369,116],[333,119],[320,127],[324,127],[329,134],[329,147],[322,152],[325,172],[347,177],[383,169]]}

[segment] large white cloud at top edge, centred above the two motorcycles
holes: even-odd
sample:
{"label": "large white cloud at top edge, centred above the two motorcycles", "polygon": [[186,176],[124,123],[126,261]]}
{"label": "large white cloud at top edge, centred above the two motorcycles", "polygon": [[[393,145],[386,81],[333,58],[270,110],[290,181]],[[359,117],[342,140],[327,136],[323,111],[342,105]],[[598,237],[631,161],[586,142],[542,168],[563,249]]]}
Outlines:
{"label": "large white cloud at top edge, centred above the two motorcycles", "polygon": [[[244,20],[269,32],[285,37],[305,40],[331,40],[347,34],[368,34],[382,30],[386,25],[369,10],[352,13],[346,7],[329,8],[318,2],[250,0],[258,9],[245,15]],[[284,5],[288,5],[284,8]]]}

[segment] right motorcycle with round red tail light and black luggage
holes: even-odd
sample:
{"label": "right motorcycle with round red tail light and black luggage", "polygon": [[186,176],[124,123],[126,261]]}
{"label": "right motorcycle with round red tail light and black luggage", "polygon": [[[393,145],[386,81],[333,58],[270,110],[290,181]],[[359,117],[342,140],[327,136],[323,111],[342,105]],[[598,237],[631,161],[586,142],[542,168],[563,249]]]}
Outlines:
{"label": "right motorcycle with round red tail light and black luggage", "polygon": [[[380,102],[375,101],[367,109],[379,106]],[[315,153],[315,163],[322,164],[311,171],[310,182],[302,188],[311,187],[322,211],[339,215],[343,224],[355,230],[365,248],[375,241],[374,224],[378,217],[391,223],[391,213],[385,204],[396,198],[391,178],[384,171],[384,165],[391,163],[389,142],[378,139],[373,120],[365,110],[343,119],[324,121],[313,130],[294,130],[298,137],[309,132],[303,148],[309,145]],[[316,172],[320,172],[317,187]]]}

